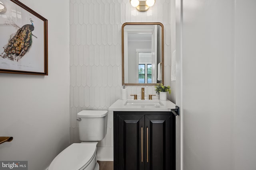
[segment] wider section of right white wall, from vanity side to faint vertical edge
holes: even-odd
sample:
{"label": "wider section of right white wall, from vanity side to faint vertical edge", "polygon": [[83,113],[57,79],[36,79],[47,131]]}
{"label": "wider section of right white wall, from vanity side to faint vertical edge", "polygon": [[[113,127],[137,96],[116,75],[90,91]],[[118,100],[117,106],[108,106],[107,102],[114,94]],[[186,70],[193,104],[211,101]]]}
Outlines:
{"label": "wider section of right white wall, from vanity side to faint vertical edge", "polygon": [[234,2],[183,0],[183,170],[232,170]]}

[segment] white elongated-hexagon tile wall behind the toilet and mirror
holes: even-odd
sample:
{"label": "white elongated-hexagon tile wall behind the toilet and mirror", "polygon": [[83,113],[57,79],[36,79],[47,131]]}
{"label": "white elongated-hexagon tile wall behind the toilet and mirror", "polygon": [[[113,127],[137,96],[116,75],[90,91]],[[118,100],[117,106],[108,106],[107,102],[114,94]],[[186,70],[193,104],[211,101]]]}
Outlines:
{"label": "white elongated-hexagon tile wall behind the toilet and mirror", "polygon": [[[125,22],[164,24],[165,84],[170,85],[170,1],[156,0],[147,12],[138,12],[129,0],[70,0],[70,143],[78,143],[76,113],[107,110],[121,98],[121,27]],[[142,86],[128,86],[128,96]],[[145,96],[154,86],[143,86]],[[105,139],[98,146],[113,146],[113,113],[108,115]]]}

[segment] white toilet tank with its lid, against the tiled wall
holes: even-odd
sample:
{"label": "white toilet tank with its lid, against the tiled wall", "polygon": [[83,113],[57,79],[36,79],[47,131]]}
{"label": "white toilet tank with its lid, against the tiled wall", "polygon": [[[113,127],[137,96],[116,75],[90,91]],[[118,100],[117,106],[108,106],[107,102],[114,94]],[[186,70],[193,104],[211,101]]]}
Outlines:
{"label": "white toilet tank with its lid, against the tiled wall", "polygon": [[107,131],[106,110],[82,110],[77,113],[80,141],[101,141]]}

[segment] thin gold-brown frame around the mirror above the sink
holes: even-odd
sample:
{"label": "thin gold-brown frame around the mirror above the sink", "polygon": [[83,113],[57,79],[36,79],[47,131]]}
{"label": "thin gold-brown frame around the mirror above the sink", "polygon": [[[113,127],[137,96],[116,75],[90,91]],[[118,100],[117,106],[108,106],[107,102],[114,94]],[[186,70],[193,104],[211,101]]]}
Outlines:
{"label": "thin gold-brown frame around the mirror above the sink", "polygon": [[125,25],[160,25],[162,39],[162,84],[164,84],[164,25],[160,22],[126,22],[122,25],[122,85],[126,86],[155,86],[156,83],[124,83],[124,26]]}

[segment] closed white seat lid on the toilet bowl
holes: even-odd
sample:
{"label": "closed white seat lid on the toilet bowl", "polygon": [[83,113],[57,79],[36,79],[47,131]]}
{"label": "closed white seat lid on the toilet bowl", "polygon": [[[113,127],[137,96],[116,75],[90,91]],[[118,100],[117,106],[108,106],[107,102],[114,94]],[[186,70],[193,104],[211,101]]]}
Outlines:
{"label": "closed white seat lid on the toilet bowl", "polygon": [[95,154],[96,143],[73,143],[54,158],[48,170],[80,170]]}

